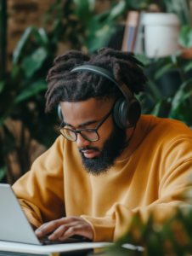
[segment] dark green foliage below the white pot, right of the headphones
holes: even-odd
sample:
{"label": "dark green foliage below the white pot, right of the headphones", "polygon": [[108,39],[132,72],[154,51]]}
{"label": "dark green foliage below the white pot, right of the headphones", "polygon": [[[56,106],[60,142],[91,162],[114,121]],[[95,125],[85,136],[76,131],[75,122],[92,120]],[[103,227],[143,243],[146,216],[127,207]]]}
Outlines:
{"label": "dark green foliage below the white pot, right of the headphones", "polygon": [[191,61],[183,60],[180,54],[156,60],[138,55],[138,59],[144,61],[149,77],[146,91],[138,96],[143,113],[178,119],[191,126]]}

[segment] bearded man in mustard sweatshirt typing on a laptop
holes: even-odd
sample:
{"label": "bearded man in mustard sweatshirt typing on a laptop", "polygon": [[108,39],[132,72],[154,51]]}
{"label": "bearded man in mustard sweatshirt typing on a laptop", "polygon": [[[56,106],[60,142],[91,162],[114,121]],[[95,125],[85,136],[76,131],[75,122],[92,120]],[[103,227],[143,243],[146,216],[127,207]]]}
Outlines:
{"label": "bearded man in mustard sweatshirt typing on a laptop", "polygon": [[122,129],[114,112],[121,90],[103,75],[71,72],[84,65],[109,71],[131,94],[147,82],[142,63],[128,52],[99,49],[88,56],[71,50],[56,58],[46,112],[59,103],[63,136],[13,188],[38,237],[53,232],[50,240],[80,235],[114,241],[133,214],[146,220],[153,209],[168,214],[182,203],[190,186],[192,131],[150,115]]}

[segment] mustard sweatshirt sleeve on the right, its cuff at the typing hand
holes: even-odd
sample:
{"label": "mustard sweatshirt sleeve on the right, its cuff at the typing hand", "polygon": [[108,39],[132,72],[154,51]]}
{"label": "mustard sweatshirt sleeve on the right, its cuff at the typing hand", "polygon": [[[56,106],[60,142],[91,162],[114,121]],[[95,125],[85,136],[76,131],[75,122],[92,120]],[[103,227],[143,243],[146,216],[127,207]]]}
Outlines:
{"label": "mustard sweatshirt sleeve on the right, its cuff at the typing hand", "polygon": [[143,222],[147,221],[151,212],[155,212],[155,218],[163,220],[171,216],[178,206],[191,207],[181,200],[184,191],[192,189],[191,148],[191,138],[179,138],[167,147],[162,155],[161,164],[156,170],[156,175],[159,175],[159,187],[157,188],[159,196],[152,204],[129,209],[126,202],[125,204],[116,202],[104,218],[83,215],[82,218],[93,227],[93,241],[116,241],[127,232],[135,214],[140,216]]}

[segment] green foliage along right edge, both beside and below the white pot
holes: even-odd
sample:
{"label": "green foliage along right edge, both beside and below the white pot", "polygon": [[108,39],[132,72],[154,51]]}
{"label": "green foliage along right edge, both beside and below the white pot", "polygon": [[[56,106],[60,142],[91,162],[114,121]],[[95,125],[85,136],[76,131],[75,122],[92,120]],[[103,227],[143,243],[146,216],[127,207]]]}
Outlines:
{"label": "green foliage along right edge, both beside and below the white pot", "polygon": [[[189,2],[163,0],[167,12],[178,15],[182,24],[178,43],[190,49],[191,42],[191,17]],[[145,55],[138,55],[144,61],[145,73],[150,78],[146,92],[139,96],[143,104],[143,113],[150,113],[161,118],[178,119],[186,125],[192,125],[191,118],[191,84],[192,60],[186,60],[184,49],[165,58],[150,60]]]}

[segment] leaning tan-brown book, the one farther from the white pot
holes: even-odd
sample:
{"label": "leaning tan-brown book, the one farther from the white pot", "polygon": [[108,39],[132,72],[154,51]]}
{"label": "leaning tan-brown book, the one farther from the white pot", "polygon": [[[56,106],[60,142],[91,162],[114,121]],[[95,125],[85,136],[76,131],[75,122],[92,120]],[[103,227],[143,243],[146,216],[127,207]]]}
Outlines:
{"label": "leaning tan-brown book, the one farther from the white pot", "polygon": [[133,51],[138,30],[138,11],[129,11],[121,50]]}

